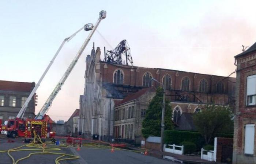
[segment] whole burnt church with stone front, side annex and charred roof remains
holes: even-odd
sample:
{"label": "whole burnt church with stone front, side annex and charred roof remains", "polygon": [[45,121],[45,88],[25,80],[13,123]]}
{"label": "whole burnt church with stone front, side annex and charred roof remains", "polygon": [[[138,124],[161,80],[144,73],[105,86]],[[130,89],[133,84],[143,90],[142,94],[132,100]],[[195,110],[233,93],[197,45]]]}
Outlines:
{"label": "whole burnt church with stone front, side annex and charred roof remains", "polygon": [[200,112],[206,104],[234,105],[235,78],[133,66],[129,49],[122,48],[126,64],[122,59],[118,61],[118,54],[109,55],[116,51],[108,51],[108,57],[104,53],[102,61],[101,49],[95,50],[94,46],[86,57],[78,123],[83,137],[105,141],[117,137],[140,138],[147,106],[155,89],[162,84],[173,108],[173,122],[179,130],[195,130],[192,114]]}

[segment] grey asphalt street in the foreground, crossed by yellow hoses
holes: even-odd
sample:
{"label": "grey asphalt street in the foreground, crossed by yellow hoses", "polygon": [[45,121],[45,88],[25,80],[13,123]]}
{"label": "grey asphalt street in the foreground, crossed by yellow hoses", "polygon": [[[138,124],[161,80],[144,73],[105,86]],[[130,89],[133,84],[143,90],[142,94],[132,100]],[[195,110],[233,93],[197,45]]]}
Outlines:
{"label": "grey asphalt street in the foreground, crossed by yellow hoses", "polygon": [[[0,138],[0,151],[16,148],[24,144],[21,138],[11,139],[14,142],[8,143],[7,139]],[[22,149],[28,149],[23,147]],[[35,151],[17,151],[11,152],[15,160],[29,155]],[[146,156],[133,151],[123,151],[101,148],[61,148],[60,153],[67,153],[80,156],[80,159],[60,161],[61,164],[177,164],[169,160],[158,159],[152,156]],[[28,159],[20,161],[18,164],[54,164],[55,159],[60,155],[31,155]],[[7,152],[0,153],[0,164],[12,164],[11,158]]]}

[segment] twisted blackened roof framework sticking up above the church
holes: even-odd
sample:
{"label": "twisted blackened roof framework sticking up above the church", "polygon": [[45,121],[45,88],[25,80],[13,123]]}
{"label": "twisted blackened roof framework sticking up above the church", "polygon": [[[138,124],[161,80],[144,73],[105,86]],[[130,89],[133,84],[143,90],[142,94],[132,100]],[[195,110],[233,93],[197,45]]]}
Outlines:
{"label": "twisted blackened roof framework sticking up above the church", "polygon": [[126,40],[122,40],[114,50],[107,51],[105,61],[123,65],[125,62],[122,62],[122,55],[125,56],[126,65],[128,65],[128,62],[133,65],[130,47]]}

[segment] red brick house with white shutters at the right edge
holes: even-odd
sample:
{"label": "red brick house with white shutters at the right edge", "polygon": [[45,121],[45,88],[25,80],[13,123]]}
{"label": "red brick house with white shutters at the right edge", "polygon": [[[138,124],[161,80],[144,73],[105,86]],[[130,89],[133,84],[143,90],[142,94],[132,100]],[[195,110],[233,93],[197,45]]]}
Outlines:
{"label": "red brick house with white shutters at the right edge", "polygon": [[256,163],[256,43],[237,61],[233,163]]}

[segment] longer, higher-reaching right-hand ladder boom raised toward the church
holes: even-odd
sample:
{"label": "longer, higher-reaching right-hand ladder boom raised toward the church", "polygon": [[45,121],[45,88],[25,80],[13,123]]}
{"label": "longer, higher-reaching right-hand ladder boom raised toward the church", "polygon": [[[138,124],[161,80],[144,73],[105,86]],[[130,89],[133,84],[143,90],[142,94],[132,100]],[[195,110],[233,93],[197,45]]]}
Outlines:
{"label": "longer, higher-reaching right-hand ladder boom raised toward the church", "polygon": [[[101,22],[102,19],[106,18],[106,11],[101,11],[99,13],[99,19],[97,20],[97,22],[95,23],[95,26],[91,26],[91,32],[89,34],[89,36],[86,38],[86,40],[84,41],[84,43],[82,44],[81,48],[79,49],[78,53],[76,54],[75,58],[72,60],[71,64],[68,66],[68,69],[65,71],[64,75],[62,76],[62,78],[60,79],[60,81],[57,83],[56,87],[53,89],[52,93],[50,94],[49,98],[46,100],[45,104],[42,106],[41,110],[39,111],[39,113],[37,114],[37,116],[35,116],[35,119],[41,120],[44,115],[46,114],[46,112],[49,110],[50,106],[52,105],[52,102],[54,100],[54,98],[56,97],[56,95],[59,93],[59,91],[61,90],[61,86],[63,86],[64,82],[66,81],[66,79],[68,78],[69,74],[71,73],[72,69],[75,67],[78,59],[80,58],[80,56],[82,55],[85,47],[87,46],[87,44],[89,43],[91,37],[93,36],[95,30],[97,29],[97,27],[99,26],[99,23]],[[87,27],[84,27],[86,31]]]}

